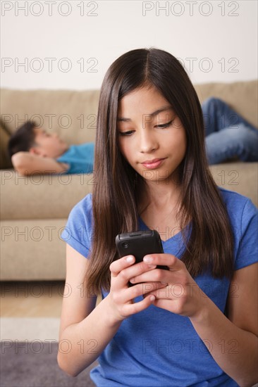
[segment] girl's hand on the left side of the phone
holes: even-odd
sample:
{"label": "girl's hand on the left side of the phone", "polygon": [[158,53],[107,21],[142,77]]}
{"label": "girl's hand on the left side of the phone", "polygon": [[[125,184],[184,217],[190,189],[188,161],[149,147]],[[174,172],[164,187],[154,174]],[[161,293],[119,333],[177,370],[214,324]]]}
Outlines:
{"label": "girl's hand on the left side of the phone", "polygon": [[134,303],[134,298],[142,296],[152,289],[166,286],[166,283],[161,284],[161,282],[155,280],[155,283],[147,281],[145,284],[137,284],[129,287],[128,282],[131,278],[140,276],[141,274],[147,274],[156,267],[156,265],[149,265],[146,262],[139,262],[135,265],[134,263],[135,257],[133,255],[127,255],[112,262],[110,265],[111,288],[106,298],[109,298],[114,323],[121,322],[126,317],[145,310],[155,300],[153,294],[145,296],[143,300],[137,303]]}

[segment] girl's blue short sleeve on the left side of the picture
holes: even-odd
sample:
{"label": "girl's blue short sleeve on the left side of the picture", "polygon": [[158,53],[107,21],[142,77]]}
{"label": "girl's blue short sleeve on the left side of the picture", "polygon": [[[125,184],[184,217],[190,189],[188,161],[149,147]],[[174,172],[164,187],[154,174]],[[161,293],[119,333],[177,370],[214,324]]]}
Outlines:
{"label": "girl's blue short sleeve on the left side of the picture", "polygon": [[92,246],[92,194],[88,194],[70,211],[61,239],[82,254],[90,255]]}

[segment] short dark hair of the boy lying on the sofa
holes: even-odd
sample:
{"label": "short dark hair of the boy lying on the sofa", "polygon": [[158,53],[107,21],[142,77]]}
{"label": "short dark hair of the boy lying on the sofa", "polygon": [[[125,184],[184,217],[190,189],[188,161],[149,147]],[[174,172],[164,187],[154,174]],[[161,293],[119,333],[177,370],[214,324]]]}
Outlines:
{"label": "short dark hair of the boy lying on the sofa", "polygon": [[10,158],[17,152],[30,151],[30,148],[35,145],[36,123],[27,121],[11,136],[8,141],[8,154]]}

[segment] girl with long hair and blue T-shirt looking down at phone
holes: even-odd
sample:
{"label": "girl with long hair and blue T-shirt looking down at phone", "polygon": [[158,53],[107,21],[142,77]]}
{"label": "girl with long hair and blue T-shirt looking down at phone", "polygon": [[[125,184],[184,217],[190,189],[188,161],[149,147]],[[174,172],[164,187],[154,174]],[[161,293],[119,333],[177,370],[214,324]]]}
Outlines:
{"label": "girl with long hair and blue T-shirt looking down at phone", "polygon": [[[61,369],[98,357],[105,387],[255,383],[257,210],[214,184],[202,109],[171,54],[137,49],[109,68],[94,177],[62,234]],[[116,259],[116,235],[138,229],[159,231],[164,253]]]}

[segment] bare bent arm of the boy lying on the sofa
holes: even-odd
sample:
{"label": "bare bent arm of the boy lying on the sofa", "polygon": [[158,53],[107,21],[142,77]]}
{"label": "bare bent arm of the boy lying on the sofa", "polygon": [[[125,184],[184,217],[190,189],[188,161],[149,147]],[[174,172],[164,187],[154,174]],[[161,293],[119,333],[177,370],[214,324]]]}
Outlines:
{"label": "bare bent arm of the boy lying on the sofa", "polygon": [[47,173],[60,173],[68,170],[69,165],[59,163],[54,158],[34,155],[30,152],[17,152],[11,161],[14,169],[20,175],[41,175]]}

